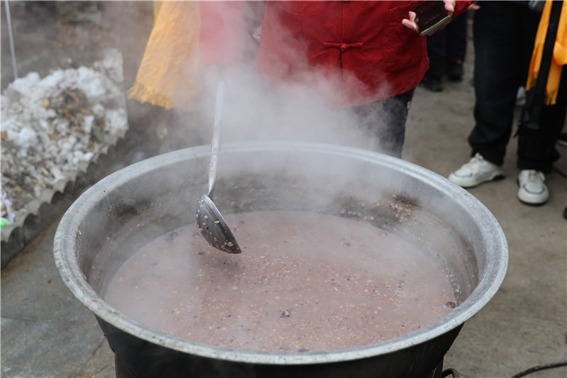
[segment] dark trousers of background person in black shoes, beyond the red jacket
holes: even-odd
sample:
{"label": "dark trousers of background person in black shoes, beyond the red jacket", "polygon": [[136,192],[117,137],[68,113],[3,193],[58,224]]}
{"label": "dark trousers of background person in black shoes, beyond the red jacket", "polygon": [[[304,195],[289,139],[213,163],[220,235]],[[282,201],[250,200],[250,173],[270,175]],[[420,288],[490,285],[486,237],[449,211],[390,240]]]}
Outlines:
{"label": "dark trousers of background person in black shoes, beyond the red jacket", "polygon": [[456,65],[465,60],[467,13],[462,13],[452,20],[447,27],[437,30],[427,37],[427,57],[430,68],[426,77],[441,79],[447,66]]}

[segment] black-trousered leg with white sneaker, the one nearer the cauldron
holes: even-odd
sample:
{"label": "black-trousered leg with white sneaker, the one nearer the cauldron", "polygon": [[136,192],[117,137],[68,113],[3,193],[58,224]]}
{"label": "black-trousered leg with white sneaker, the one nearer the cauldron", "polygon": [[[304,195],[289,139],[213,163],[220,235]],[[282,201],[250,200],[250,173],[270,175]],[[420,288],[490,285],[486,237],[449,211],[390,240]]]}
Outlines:
{"label": "black-trousered leg with white sneaker, the one nearer the cauldron", "polygon": [[507,1],[486,1],[475,13],[476,124],[468,136],[472,159],[449,174],[461,187],[503,177],[517,89],[527,77],[538,21],[527,5]]}

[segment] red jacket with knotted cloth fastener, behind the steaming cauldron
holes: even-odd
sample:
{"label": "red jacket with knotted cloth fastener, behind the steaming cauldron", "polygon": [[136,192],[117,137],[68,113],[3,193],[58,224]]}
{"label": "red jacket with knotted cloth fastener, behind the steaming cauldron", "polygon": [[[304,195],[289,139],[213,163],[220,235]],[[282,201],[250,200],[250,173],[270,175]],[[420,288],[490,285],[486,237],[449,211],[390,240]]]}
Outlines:
{"label": "red jacket with knotted cloth fastener, behind the steaming cauldron", "polygon": [[[402,25],[421,2],[266,1],[257,66],[272,84],[307,84],[337,107],[403,93],[429,65],[426,38]],[[471,3],[457,1],[454,16]]]}

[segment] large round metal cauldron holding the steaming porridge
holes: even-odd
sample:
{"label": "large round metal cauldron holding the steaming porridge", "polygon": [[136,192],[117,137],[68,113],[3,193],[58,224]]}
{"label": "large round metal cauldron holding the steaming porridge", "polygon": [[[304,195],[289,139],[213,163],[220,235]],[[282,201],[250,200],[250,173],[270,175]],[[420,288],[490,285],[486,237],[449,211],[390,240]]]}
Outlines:
{"label": "large round metal cauldron holding the steaming porridge", "polygon": [[106,284],[141,245],[195,222],[209,154],[209,146],[188,148],[121,169],[86,191],[57,228],[62,279],[136,377],[423,377],[503,281],[507,245],[495,218],[427,169],[335,145],[227,144],[215,193],[223,213],[307,209],[401,233],[447,272],[458,306],[430,326],[381,343],[283,355],[193,343],[145,326],[103,300]]}

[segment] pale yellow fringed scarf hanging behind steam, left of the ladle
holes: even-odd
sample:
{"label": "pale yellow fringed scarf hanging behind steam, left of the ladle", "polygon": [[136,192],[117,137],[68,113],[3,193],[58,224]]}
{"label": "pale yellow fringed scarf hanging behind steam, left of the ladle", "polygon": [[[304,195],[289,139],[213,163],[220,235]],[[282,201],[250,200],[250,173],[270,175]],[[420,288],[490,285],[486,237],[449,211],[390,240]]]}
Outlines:
{"label": "pale yellow fringed scarf hanging behind steam, left of the ladle", "polygon": [[128,98],[191,111],[201,91],[198,1],[155,1],[155,23]]}

